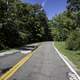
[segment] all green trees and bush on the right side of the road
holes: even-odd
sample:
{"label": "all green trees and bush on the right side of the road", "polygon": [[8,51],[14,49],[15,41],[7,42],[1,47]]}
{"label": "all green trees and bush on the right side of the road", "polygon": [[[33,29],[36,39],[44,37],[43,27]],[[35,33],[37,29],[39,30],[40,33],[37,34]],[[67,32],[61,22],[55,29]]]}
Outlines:
{"label": "all green trees and bush on the right side of the road", "polygon": [[80,0],[67,0],[67,9],[49,21],[53,39],[66,41],[66,48],[80,50]]}

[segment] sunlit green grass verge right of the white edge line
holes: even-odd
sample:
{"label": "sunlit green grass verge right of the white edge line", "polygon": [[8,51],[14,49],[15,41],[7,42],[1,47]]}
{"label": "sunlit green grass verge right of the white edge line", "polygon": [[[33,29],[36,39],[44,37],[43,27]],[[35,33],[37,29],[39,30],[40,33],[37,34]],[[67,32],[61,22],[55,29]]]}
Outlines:
{"label": "sunlit green grass verge right of the white edge line", "polygon": [[80,69],[80,51],[71,51],[66,49],[65,42],[55,42],[56,48],[71,60],[78,69]]}

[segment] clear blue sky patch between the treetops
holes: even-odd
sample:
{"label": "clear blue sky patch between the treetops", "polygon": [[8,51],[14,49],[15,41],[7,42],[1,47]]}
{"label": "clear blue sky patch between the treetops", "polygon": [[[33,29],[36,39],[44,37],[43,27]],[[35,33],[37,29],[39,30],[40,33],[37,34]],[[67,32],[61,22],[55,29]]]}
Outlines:
{"label": "clear blue sky patch between the treetops", "polygon": [[48,19],[52,19],[55,15],[66,9],[67,0],[23,0],[24,2],[35,4],[39,3],[43,6]]}

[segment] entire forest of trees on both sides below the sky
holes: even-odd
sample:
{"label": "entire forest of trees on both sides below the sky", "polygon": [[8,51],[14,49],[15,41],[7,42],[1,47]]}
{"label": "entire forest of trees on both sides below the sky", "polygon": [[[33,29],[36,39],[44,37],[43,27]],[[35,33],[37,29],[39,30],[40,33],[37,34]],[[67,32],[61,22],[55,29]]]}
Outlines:
{"label": "entire forest of trees on both sides below the sky", "polygon": [[80,50],[80,0],[67,0],[66,10],[52,20],[40,4],[0,0],[0,50],[52,40]]}

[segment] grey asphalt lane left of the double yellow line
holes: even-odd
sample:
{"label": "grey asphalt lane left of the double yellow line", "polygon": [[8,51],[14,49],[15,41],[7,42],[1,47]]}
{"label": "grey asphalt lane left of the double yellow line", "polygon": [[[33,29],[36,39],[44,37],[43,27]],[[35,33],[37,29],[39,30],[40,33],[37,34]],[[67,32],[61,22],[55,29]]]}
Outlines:
{"label": "grey asphalt lane left of the double yellow line", "polygon": [[[9,54],[9,55],[5,55],[0,57],[0,71],[7,71],[8,68],[13,67],[16,63],[18,63],[23,57],[25,56],[25,54],[21,54],[19,52],[17,53],[13,53],[13,54]],[[0,76],[3,74],[4,72],[0,72]]]}

